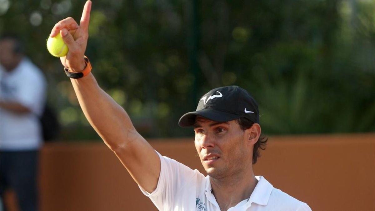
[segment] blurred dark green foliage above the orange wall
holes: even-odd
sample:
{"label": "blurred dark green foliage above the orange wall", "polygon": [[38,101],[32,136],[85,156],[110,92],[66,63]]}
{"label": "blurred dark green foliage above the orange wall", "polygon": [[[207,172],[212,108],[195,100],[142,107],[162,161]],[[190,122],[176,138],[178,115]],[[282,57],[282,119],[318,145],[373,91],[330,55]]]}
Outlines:
{"label": "blurred dark green foliage above the orange wall", "polygon": [[[84,1],[1,0],[45,72],[62,139],[98,139],[45,39]],[[9,6],[7,6],[9,5]],[[217,86],[258,100],[267,134],[375,130],[374,1],[94,1],[86,55],[99,84],[146,137],[191,135],[183,113]],[[40,17],[42,20],[40,21]]]}

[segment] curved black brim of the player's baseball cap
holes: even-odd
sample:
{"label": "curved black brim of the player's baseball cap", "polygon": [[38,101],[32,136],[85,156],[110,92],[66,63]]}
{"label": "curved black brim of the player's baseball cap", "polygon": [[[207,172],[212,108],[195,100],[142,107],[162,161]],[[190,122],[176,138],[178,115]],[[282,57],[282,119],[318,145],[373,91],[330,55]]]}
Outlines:
{"label": "curved black brim of the player's baseball cap", "polygon": [[203,118],[216,122],[228,122],[241,117],[240,115],[226,113],[214,109],[202,109],[182,115],[178,121],[178,125],[180,125],[180,127],[191,127],[195,123],[196,116],[202,116]]}

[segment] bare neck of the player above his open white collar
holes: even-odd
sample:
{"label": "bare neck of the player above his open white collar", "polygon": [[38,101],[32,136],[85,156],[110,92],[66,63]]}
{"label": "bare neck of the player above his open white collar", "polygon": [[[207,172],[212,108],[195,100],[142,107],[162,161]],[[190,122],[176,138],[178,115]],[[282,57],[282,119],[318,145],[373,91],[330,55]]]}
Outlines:
{"label": "bare neck of the player above his open white collar", "polygon": [[242,200],[248,199],[258,180],[251,167],[249,171],[238,173],[230,178],[215,179],[210,177],[210,182],[220,210],[227,210]]}

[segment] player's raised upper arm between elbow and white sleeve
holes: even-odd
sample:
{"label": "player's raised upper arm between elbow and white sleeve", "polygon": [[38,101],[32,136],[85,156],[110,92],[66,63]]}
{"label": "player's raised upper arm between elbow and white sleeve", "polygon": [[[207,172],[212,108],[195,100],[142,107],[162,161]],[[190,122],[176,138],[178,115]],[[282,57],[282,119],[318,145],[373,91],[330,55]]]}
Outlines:
{"label": "player's raised upper arm between elbow and white sleeve", "polygon": [[118,146],[114,152],[134,181],[151,193],[159,179],[159,155],[137,131],[130,131],[127,136],[124,145]]}

